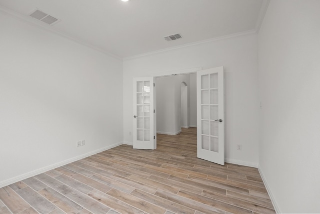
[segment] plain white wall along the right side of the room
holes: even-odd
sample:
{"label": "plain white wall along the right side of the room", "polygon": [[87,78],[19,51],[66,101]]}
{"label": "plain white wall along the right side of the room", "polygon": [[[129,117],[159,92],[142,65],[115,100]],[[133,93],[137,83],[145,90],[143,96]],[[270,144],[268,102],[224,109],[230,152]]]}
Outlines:
{"label": "plain white wall along the right side of the room", "polygon": [[259,169],[279,212],[320,212],[320,1],[272,0],[259,31]]}

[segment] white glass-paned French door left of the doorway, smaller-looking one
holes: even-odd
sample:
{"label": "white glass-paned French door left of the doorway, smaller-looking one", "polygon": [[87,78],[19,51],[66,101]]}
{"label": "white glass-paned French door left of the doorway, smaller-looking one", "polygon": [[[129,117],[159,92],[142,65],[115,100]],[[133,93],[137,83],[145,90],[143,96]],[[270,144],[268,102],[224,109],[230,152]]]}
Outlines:
{"label": "white glass-paned French door left of the doorway, smaller-looking one", "polygon": [[155,149],[153,77],[133,78],[133,148]]}

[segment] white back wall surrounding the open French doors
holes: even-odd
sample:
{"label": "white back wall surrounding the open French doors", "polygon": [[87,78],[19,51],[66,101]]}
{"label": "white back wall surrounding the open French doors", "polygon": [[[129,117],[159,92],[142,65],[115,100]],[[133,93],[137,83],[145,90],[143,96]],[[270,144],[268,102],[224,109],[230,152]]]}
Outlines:
{"label": "white back wall surrounding the open French doors", "polygon": [[[257,166],[258,86],[257,35],[247,34],[154,53],[123,62],[123,136],[132,144],[132,78],[161,72],[224,66],[225,157],[229,162]],[[242,151],[236,145],[242,145]]]}

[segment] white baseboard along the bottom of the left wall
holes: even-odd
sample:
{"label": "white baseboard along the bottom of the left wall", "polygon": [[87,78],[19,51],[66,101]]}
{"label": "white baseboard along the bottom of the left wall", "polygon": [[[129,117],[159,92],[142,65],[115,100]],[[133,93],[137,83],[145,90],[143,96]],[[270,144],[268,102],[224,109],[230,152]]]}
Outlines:
{"label": "white baseboard along the bottom of the left wall", "polygon": [[110,149],[110,148],[113,148],[113,147],[122,145],[122,144],[123,144],[122,141],[121,141],[121,142],[118,142],[118,143],[114,143],[114,144],[112,144],[112,145],[105,146],[105,147],[103,147],[103,148],[100,148],[100,149],[97,149],[97,150],[94,150],[94,151],[90,151],[90,152],[88,152],[88,153],[85,153],[85,154],[82,154],[82,155],[79,155],[79,156],[76,156],[76,157],[72,157],[72,158],[70,158],[70,159],[63,160],[63,161],[61,161],[61,162],[54,163],[54,164],[51,164],[51,165],[48,165],[48,166],[44,166],[44,167],[42,167],[42,168],[39,168],[39,169],[30,171],[30,172],[27,172],[27,173],[24,173],[24,174],[21,174],[21,175],[18,175],[18,176],[15,176],[15,177],[12,177],[12,178],[3,180],[3,181],[0,181],[0,188],[2,188],[3,186],[7,186],[7,185],[10,185],[10,184],[12,184],[12,183],[15,183],[15,182],[17,182],[17,181],[24,180],[24,179],[26,179],[26,178],[32,177],[32,176],[34,176],[34,175],[41,174],[41,173],[46,172],[46,171],[49,171],[49,170],[51,170],[51,169],[55,169],[55,168],[57,168],[57,167],[60,167],[60,166],[65,165],[65,164],[72,163],[72,162],[74,162],[74,161],[77,161],[77,160],[80,160],[80,159],[82,159],[82,158],[91,156],[91,155],[93,155],[93,154],[96,154],[96,153],[99,153],[99,152],[108,150],[108,149]]}

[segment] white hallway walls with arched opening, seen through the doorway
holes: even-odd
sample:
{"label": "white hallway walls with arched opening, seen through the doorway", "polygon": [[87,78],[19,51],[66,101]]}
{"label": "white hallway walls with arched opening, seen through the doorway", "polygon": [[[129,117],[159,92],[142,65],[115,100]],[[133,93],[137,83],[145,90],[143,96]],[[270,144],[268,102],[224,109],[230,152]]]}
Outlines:
{"label": "white hallway walls with arched opening, seen through the doorway", "polygon": [[196,73],[155,77],[156,133],[196,127]]}

